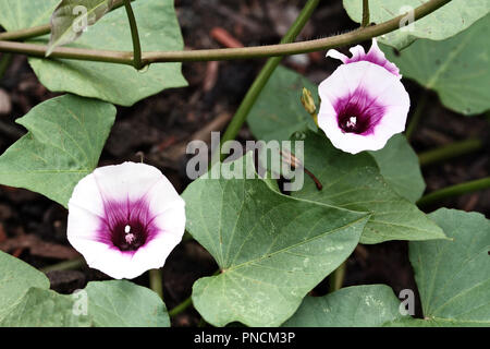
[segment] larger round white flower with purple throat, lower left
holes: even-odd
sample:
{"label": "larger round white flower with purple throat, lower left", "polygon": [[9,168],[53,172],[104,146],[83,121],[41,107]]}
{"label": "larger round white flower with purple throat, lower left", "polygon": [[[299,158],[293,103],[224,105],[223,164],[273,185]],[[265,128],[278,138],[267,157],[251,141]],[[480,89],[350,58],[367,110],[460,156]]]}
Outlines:
{"label": "larger round white flower with purple throat, lower left", "polygon": [[97,168],[69,202],[70,243],[90,267],[115,279],[163,266],[184,230],[184,200],[145,164]]}

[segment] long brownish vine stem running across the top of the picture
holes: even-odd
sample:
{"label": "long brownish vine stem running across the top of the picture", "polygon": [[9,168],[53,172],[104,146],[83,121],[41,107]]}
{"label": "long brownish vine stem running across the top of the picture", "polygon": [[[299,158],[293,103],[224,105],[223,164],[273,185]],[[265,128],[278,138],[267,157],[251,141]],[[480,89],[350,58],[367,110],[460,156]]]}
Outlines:
{"label": "long brownish vine stem running across the top of the picture", "polygon": [[[414,20],[417,21],[432,13],[450,1],[451,0],[430,0],[420,4],[414,10]],[[350,33],[321,39],[245,48],[223,48],[209,50],[205,49],[191,51],[154,51],[143,53],[142,61],[143,65],[147,65],[157,62],[250,59],[313,52],[334,47],[358,44],[372,37],[396,31],[400,27],[400,21],[404,16],[405,14],[402,14],[390,21],[377,25],[362,27]],[[24,44],[4,40],[0,41],[1,52],[24,53],[33,57],[44,58],[47,49],[48,47],[46,45]],[[50,57],[133,65],[133,52],[128,51],[109,51],[75,47],[58,47],[52,51]]]}

